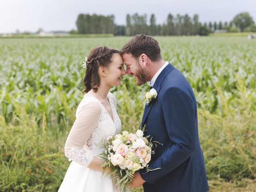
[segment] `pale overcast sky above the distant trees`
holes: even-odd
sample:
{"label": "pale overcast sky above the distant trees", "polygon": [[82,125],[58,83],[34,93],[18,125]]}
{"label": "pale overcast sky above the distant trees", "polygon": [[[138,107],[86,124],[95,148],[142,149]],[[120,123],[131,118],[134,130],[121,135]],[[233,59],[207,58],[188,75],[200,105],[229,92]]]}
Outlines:
{"label": "pale overcast sky above the distant trees", "polygon": [[256,22],[256,0],[0,0],[0,33],[76,29],[78,14],[114,14],[116,24],[126,24],[126,14],[152,13],[162,24],[171,13],[199,15],[200,22],[230,21],[249,12]]}

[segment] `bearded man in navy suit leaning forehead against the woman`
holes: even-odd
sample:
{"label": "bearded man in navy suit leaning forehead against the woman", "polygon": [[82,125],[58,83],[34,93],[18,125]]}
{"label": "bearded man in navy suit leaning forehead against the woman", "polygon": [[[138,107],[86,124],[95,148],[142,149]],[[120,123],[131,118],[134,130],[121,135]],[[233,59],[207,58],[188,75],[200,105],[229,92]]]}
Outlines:
{"label": "bearded man in navy suit leaning forehead against the woman", "polygon": [[131,187],[143,184],[145,192],[207,192],[196,98],[188,80],[162,59],[158,42],[150,36],[136,35],[120,52],[126,73],[138,86],[148,82],[158,94],[145,106],[141,126],[146,125],[146,136],[163,144],[149,163],[150,169],[160,169],[136,172]]}

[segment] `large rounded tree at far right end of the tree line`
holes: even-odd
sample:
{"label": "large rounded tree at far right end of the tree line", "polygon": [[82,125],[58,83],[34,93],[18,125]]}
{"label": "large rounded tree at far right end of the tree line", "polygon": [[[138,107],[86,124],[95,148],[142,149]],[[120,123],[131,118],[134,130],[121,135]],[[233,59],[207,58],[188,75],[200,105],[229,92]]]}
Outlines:
{"label": "large rounded tree at far right end of the tree line", "polygon": [[241,32],[243,32],[246,27],[254,24],[254,21],[248,12],[237,14],[234,17],[233,22]]}

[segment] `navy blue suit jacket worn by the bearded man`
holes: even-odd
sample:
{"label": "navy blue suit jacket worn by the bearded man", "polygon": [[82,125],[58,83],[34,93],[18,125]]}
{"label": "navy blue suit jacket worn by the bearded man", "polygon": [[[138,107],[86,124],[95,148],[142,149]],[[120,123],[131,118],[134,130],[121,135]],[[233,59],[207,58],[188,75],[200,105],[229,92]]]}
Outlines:
{"label": "navy blue suit jacket worn by the bearded man", "polygon": [[145,106],[142,125],[158,145],[140,175],[144,192],[207,192],[204,156],[198,138],[194,92],[183,74],[170,63],[162,70],[153,88],[156,99]]}

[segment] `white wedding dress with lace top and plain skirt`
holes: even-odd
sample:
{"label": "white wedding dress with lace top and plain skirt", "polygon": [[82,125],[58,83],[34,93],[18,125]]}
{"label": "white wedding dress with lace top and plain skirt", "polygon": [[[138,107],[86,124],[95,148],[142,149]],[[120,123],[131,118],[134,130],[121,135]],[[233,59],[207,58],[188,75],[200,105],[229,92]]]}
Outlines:
{"label": "white wedding dress with lace top and plain skirt", "polygon": [[119,134],[121,121],[116,112],[116,100],[108,93],[114,121],[94,96],[84,95],[76,110],[76,120],[65,144],[65,155],[72,160],[58,192],[118,192],[112,180],[102,171],[87,166],[93,156],[105,149],[102,141]]}

